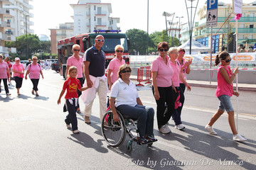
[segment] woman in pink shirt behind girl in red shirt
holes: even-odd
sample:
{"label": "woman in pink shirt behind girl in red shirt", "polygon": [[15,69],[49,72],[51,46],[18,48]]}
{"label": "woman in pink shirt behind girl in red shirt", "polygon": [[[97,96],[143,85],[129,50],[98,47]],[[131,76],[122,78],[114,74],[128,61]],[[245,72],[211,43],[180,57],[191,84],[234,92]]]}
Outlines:
{"label": "woman in pink shirt behind girl in red shirt", "polygon": [[[80,85],[82,86],[84,84],[84,78],[83,78],[83,73],[82,73],[82,69],[83,69],[83,62],[82,62],[82,57],[79,56],[79,52],[80,52],[80,45],[75,44],[72,47],[72,52],[73,55],[71,57],[68,58],[67,61],[67,69],[66,69],[66,77],[68,79],[69,74],[68,74],[68,69],[71,66],[75,66],[78,69],[78,76],[77,79],[80,81]],[[78,98],[81,96],[82,92],[78,90]],[[78,110],[77,113],[81,113],[80,111],[80,106],[78,104]]]}

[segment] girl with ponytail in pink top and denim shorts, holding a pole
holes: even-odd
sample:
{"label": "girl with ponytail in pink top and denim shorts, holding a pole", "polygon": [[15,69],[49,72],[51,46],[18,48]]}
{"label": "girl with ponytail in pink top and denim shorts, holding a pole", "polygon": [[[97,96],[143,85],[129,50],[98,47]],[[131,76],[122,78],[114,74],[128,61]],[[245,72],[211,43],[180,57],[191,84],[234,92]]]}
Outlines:
{"label": "girl with ponytail in pink top and denim shorts, holding a pole", "polygon": [[245,137],[239,135],[238,131],[235,128],[235,112],[230,101],[231,96],[239,96],[238,92],[233,91],[233,80],[235,79],[235,75],[238,74],[239,70],[238,68],[235,68],[234,72],[231,72],[229,66],[231,62],[231,57],[228,54],[228,52],[224,51],[221,52],[220,55],[216,56],[215,66],[217,66],[220,62],[221,65],[220,67],[218,67],[217,75],[218,86],[215,93],[215,96],[218,97],[218,99],[220,100],[220,105],[217,113],[213,115],[213,118],[211,118],[208,125],[206,125],[206,130],[208,130],[208,132],[210,132],[211,135],[217,135],[217,132],[215,132],[215,130],[213,130],[212,128],[213,123],[215,123],[215,121],[218,120],[218,118],[220,118],[220,115],[222,115],[224,111],[227,111],[228,123],[230,124],[230,128],[233,132],[233,140],[237,142],[245,142]]}

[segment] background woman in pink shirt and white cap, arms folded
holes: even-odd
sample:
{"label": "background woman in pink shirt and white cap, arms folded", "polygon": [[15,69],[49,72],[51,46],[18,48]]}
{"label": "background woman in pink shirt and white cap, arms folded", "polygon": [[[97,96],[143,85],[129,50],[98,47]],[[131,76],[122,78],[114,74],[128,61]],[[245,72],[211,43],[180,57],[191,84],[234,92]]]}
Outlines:
{"label": "background woman in pink shirt and white cap, arms folded", "polygon": [[16,82],[17,94],[21,95],[19,90],[21,89],[24,77],[24,67],[23,64],[20,63],[20,59],[18,57],[15,58],[15,64],[13,64],[12,70],[14,72],[14,80]]}

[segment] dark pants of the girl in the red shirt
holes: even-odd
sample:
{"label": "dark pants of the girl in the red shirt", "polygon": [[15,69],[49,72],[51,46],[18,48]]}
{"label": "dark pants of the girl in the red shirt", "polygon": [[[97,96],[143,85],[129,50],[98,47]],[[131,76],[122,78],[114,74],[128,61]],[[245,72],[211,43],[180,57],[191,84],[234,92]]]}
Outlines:
{"label": "dark pants of the girl in the red shirt", "polygon": [[67,99],[65,106],[68,109],[68,115],[65,118],[65,123],[67,125],[71,123],[73,131],[78,130],[78,118],[76,117],[76,111],[78,109],[78,98]]}

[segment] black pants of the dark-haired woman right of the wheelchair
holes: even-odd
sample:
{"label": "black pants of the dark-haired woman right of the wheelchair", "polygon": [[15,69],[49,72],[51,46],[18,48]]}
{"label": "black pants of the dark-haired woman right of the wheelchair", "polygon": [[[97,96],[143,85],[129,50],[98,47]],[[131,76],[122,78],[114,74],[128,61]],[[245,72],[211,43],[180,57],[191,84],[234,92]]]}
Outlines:
{"label": "black pants of the dark-haired woman right of the wheelchair", "polygon": [[[160,98],[156,100],[156,118],[158,128],[168,123],[172,113],[174,113],[174,89],[169,87],[158,87]],[[152,88],[154,94],[154,86]],[[167,111],[166,106],[167,105]]]}

